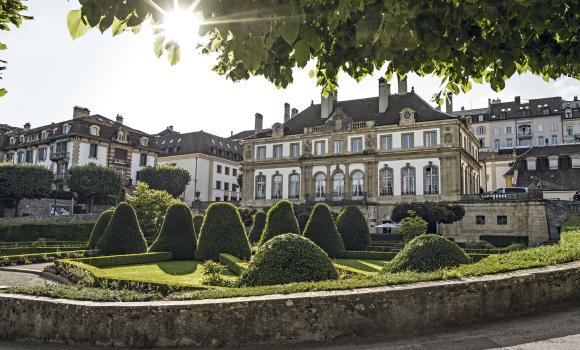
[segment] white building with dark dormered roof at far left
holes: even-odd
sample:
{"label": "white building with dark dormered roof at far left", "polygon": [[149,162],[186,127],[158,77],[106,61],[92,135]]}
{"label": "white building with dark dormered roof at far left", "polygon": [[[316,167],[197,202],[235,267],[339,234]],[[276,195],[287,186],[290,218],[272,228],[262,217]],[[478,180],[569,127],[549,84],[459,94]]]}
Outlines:
{"label": "white building with dark dormered roof at far left", "polygon": [[131,187],[137,171],[157,162],[152,143],[152,136],[123,125],[120,115],[113,121],[74,107],[70,120],[37,128],[26,123],[22,130],[5,133],[0,152],[7,162],[51,169],[58,186],[71,166],[94,163],[118,170]]}

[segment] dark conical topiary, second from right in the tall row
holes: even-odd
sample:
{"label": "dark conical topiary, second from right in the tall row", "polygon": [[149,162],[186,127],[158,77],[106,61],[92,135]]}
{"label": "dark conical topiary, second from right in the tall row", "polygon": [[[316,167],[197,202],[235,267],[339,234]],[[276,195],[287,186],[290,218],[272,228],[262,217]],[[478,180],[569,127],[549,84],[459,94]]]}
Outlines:
{"label": "dark conical topiary, second from right in the tall row", "polygon": [[316,243],[332,258],[344,250],[344,243],[336,229],[330,208],[324,203],[318,203],[312,209],[304,228],[304,237]]}

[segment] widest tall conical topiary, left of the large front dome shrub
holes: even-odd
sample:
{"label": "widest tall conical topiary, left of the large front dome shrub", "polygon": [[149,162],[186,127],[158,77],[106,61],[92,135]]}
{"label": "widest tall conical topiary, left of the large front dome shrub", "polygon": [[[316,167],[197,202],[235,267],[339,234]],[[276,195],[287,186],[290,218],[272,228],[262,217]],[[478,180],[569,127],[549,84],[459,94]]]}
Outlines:
{"label": "widest tall conical topiary, left of the large front dome shrub", "polygon": [[220,253],[244,260],[252,254],[240,214],[231,203],[213,203],[207,208],[197,240],[197,259],[217,261]]}

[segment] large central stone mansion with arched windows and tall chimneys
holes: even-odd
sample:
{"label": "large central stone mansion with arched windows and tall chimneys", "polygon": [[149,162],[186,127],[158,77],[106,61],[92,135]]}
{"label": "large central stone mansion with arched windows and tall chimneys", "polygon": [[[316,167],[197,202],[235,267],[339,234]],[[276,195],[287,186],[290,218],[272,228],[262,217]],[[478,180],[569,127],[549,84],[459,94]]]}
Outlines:
{"label": "large central stone mansion with arched windows and tall chimneys", "polygon": [[479,143],[461,118],[432,108],[406,81],[398,94],[379,80],[379,96],[321,104],[243,139],[244,204],[295,202],[360,204],[370,221],[394,204],[457,200],[478,193]]}

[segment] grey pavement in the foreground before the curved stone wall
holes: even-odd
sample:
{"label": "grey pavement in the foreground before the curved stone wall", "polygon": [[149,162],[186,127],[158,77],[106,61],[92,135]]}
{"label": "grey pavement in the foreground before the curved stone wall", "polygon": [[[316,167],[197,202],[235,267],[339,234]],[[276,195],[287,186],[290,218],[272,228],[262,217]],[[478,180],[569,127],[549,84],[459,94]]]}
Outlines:
{"label": "grey pavement in the foreground before the curved stone wall", "polygon": [[[0,341],[0,350],[92,349],[87,346],[12,343]],[[105,349],[105,348],[95,348]],[[432,335],[400,340],[341,339],[327,344],[251,346],[224,348],[237,350],[577,350],[580,349],[580,306],[497,323],[446,329]]]}

